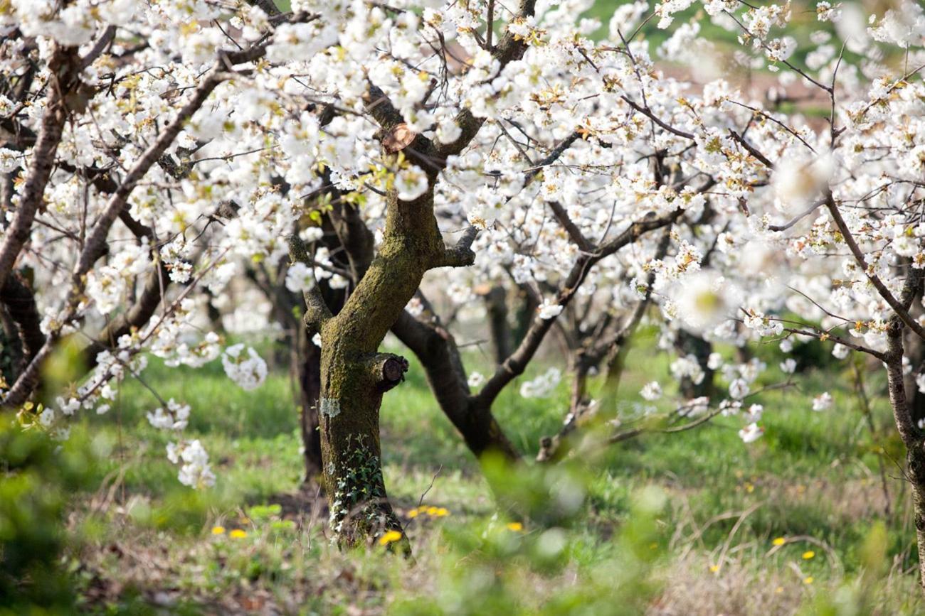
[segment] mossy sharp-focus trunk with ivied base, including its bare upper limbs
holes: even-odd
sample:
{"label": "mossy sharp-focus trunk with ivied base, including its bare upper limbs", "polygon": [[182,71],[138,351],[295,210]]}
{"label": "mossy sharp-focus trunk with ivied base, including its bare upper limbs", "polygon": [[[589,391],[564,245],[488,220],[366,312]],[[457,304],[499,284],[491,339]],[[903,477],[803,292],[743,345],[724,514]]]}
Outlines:
{"label": "mossy sharp-focus trunk with ivied base, including its bare upper limbs", "polygon": [[[521,0],[517,15],[533,15],[536,0]],[[507,32],[492,55],[505,66],[526,49]],[[373,85],[365,95],[367,112],[384,134],[404,122],[388,97]],[[330,503],[330,522],[341,545],[355,545],[384,530],[401,530],[388,503],[382,477],[379,406],[382,394],[397,385],[408,364],[399,356],[378,352],[388,330],[401,317],[425,272],[438,267],[470,265],[475,228],[448,248],[434,215],[434,187],[451,156],[459,155],[485,123],[466,109],[455,117],[460,136],[436,146],[418,135],[402,154],[427,175],[420,197],[399,199],[388,193],[386,228],[376,258],[369,264],[343,308],[335,316],[317,287],[304,294],[305,324],[321,334],[321,452],[323,483]],[[399,163],[386,151],[387,162]],[[391,160],[389,161],[389,158]],[[309,262],[298,236],[290,237],[293,260]],[[407,541],[402,542],[407,548]]]}

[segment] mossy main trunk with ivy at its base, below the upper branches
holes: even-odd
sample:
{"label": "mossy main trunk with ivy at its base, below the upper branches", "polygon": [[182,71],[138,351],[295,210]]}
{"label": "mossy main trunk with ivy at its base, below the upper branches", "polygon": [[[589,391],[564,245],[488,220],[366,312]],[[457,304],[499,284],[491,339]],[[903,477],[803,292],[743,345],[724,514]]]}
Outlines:
{"label": "mossy main trunk with ivy at its base, below the upper branches", "polygon": [[[322,477],[340,545],[401,531],[382,477],[379,407],[382,394],[403,380],[408,362],[377,349],[426,270],[444,262],[432,210],[432,188],[411,201],[392,193],[379,254],[337,316],[316,287],[305,294],[306,323],[321,333]],[[295,237],[290,252],[309,262]],[[407,539],[399,545],[407,550]]]}

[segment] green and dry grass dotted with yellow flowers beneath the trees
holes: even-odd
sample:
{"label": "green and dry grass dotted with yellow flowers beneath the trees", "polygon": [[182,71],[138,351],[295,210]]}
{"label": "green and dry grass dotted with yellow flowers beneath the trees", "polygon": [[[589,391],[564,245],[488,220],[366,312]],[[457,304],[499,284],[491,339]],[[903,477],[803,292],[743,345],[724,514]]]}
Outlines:
{"label": "green and dry grass dotted with yellow flowers beneath the trees", "polygon": [[[671,382],[649,342],[630,358],[629,400],[648,380]],[[776,366],[770,348],[759,353]],[[218,482],[203,491],[179,485],[167,435],[144,417],[157,402],[138,382],[125,383],[108,415],[83,421],[101,455],[100,488],[73,502],[68,558],[91,613],[596,614],[614,613],[602,607],[613,604],[627,614],[849,613],[825,611],[831,606],[818,602],[830,598],[861,606],[850,613],[923,609],[909,496],[876,367],[868,384],[875,437],[852,392],[833,387],[848,382],[844,366],[808,368],[795,388],[762,396],[766,434],[751,445],[736,435],[739,418],[716,417],[699,429],[625,441],[586,464],[507,477],[499,485],[512,494],[540,499],[525,532],[514,532],[413,362],[382,410],[386,480],[409,523],[409,563],[385,550],[330,547],[323,507],[298,490],[298,417],[284,373],[246,393],[217,362],[199,370],[151,363],[146,383],[192,406],[188,436],[203,441]],[[781,379],[775,371],[769,382]],[[567,384],[546,399],[521,398],[516,385],[495,410],[532,455],[561,423]],[[826,389],[833,409],[809,410]],[[890,452],[881,458],[889,515],[880,447]],[[424,494],[450,515],[408,518]],[[575,498],[577,511],[549,518]],[[215,525],[226,532],[213,535]],[[247,537],[229,537],[233,528]],[[783,546],[773,545],[776,537],[786,537]],[[808,550],[815,554],[807,559]]]}

